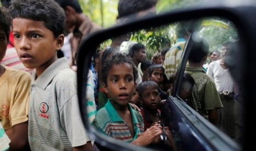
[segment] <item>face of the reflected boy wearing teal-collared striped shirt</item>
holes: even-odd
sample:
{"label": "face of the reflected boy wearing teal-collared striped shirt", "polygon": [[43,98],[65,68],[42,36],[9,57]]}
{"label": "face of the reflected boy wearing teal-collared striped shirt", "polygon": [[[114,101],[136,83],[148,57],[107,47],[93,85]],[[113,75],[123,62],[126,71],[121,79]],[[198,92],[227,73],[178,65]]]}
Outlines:
{"label": "face of the reflected boy wearing teal-collared striped shirt", "polygon": [[127,106],[136,87],[132,66],[128,63],[112,65],[107,75],[107,85],[103,83],[103,86],[112,103]]}

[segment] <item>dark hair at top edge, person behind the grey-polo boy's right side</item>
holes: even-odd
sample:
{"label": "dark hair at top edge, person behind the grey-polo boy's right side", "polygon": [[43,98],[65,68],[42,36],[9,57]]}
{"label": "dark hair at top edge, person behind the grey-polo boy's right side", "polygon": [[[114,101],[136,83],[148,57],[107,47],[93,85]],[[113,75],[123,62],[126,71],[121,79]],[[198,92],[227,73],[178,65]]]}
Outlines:
{"label": "dark hair at top edge, person behind the grey-polo boy's right side", "polygon": [[67,5],[74,8],[75,12],[83,13],[83,10],[80,7],[78,0],[55,0],[61,7],[66,10]]}

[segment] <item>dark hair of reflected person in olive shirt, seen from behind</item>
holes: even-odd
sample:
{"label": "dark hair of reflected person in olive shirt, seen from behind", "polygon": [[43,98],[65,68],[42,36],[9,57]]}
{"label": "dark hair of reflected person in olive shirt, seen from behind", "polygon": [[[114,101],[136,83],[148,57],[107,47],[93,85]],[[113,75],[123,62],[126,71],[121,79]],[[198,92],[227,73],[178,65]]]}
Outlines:
{"label": "dark hair of reflected person in olive shirt, seen from behind", "polygon": [[203,61],[205,55],[208,54],[209,44],[206,39],[201,37],[194,37],[192,48],[188,57],[188,61],[192,63],[199,63]]}

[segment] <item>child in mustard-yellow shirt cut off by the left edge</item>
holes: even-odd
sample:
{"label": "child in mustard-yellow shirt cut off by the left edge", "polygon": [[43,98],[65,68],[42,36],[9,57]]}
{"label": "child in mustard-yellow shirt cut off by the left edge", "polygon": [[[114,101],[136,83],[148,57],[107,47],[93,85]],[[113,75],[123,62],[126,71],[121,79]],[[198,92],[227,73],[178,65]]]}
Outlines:
{"label": "child in mustard-yellow shirt cut off by the left edge", "polygon": [[[6,54],[10,33],[9,14],[0,9],[0,62]],[[31,75],[0,64],[0,136],[6,133],[10,150],[28,147],[28,102]],[[1,138],[2,139],[2,138]],[[2,146],[2,140],[0,144]],[[0,147],[1,148],[1,147]],[[2,150],[2,149],[0,149]]]}

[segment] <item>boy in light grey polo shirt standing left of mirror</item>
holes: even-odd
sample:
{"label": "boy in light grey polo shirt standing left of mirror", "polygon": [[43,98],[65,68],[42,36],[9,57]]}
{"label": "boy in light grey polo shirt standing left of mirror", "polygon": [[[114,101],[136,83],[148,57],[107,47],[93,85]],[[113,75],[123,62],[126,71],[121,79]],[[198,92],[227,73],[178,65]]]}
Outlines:
{"label": "boy in light grey polo shirt standing left of mirror", "polygon": [[29,106],[31,150],[92,150],[79,113],[76,73],[56,55],[64,40],[64,10],[51,0],[12,1],[9,9],[17,54],[36,71]]}

